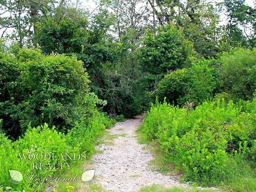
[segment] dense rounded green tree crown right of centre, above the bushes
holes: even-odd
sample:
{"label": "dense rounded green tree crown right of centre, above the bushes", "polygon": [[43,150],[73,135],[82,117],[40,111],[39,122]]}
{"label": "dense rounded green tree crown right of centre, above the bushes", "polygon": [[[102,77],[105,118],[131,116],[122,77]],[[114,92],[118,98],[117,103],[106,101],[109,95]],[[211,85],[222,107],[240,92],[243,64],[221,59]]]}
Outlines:
{"label": "dense rounded green tree crown right of centre, above the bushes", "polygon": [[147,33],[142,39],[138,63],[143,71],[155,75],[166,74],[168,70],[188,66],[189,57],[194,54],[193,44],[173,25],[166,25],[158,28],[156,36]]}

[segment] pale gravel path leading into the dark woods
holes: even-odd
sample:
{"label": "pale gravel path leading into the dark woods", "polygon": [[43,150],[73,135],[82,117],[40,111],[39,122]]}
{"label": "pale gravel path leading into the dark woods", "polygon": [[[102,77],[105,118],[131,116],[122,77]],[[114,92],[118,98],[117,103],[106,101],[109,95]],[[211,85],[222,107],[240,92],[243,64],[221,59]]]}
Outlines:
{"label": "pale gravel path leading into the dark woods", "polygon": [[102,144],[98,150],[103,153],[92,158],[96,182],[113,192],[138,191],[141,187],[152,184],[188,187],[180,184],[175,177],[165,176],[148,168],[148,162],[153,156],[147,149],[142,149],[145,145],[139,144],[134,137],[142,118],[143,116],[138,116],[136,119],[116,123],[110,129],[108,137],[115,137],[112,141],[114,145]]}

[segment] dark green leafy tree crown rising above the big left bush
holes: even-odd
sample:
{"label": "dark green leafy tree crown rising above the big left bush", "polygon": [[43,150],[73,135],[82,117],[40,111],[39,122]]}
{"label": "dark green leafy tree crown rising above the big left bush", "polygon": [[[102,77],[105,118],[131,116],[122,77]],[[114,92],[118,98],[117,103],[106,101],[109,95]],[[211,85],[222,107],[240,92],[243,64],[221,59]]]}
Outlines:
{"label": "dark green leafy tree crown rising above the big left bush", "polygon": [[88,21],[81,18],[64,16],[59,22],[49,17],[37,24],[37,41],[45,53],[67,53],[76,47],[81,48],[80,42],[86,37]]}

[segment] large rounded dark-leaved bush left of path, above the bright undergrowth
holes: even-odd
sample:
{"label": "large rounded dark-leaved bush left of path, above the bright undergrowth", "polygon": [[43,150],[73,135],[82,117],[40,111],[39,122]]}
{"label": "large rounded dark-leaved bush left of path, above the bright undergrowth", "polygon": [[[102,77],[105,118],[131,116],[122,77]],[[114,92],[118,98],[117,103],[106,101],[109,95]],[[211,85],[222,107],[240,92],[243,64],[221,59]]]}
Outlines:
{"label": "large rounded dark-leaved bush left of path, above the bright undergrowth", "polygon": [[0,64],[0,118],[12,138],[25,133],[29,123],[47,122],[67,132],[95,113],[97,97],[89,93],[88,75],[76,57],[23,48],[15,57],[1,53]]}

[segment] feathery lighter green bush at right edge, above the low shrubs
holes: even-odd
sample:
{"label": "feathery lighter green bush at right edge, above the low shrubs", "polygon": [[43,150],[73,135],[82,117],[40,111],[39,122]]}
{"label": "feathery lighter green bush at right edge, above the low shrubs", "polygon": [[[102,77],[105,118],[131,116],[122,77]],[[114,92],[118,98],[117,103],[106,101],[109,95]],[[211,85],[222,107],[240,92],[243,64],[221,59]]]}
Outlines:
{"label": "feathery lighter green bush at right edge, above the low shrubs", "polygon": [[219,57],[220,78],[225,92],[236,100],[252,99],[256,89],[256,49],[235,49]]}

